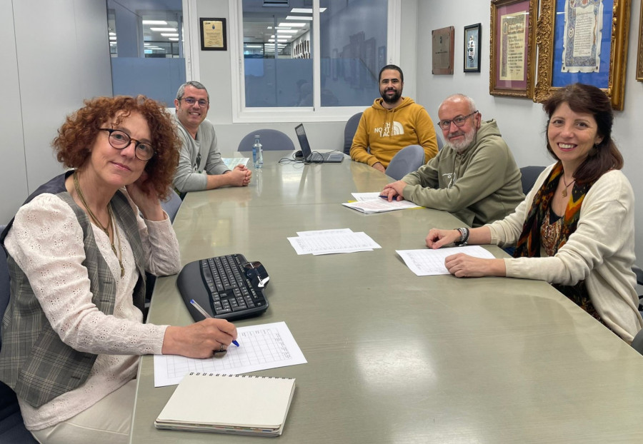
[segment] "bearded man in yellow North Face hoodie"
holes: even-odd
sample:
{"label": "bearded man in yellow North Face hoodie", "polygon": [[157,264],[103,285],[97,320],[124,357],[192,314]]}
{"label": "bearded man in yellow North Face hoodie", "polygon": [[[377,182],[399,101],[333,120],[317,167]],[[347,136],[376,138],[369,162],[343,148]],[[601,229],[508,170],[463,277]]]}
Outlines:
{"label": "bearded man in yellow North Face hoodie", "polygon": [[[424,148],[424,163],[437,154],[433,121],[424,106],[402,97],[404,74],[399,66],[379,71],[379,94],[359,120],[351,146],[354,161],[368,163],[382,173],[399,150],[409,145]],[[369,152],[370,150],[370,152]]]}

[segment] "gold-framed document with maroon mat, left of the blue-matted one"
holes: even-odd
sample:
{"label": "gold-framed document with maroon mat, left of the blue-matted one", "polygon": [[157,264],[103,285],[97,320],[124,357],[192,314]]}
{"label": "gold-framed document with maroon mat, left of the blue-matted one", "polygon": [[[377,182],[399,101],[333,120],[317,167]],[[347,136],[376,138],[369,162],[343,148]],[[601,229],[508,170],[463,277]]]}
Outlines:
{"label": "gold-framed document with maroon mat, left of the blue-matted one", "polygon": [[538,0],[492,0],[489,94],[534,96]]}

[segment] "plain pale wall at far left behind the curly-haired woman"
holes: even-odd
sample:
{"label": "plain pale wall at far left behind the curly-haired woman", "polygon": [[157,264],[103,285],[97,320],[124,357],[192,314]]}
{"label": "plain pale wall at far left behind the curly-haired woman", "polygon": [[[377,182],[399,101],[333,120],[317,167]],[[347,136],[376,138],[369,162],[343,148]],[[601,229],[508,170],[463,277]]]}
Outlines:
{"label": "plain pale wall at far left behind the curly-haired woman", "polygon": [[0,223],[62,171],[51,140],[66,114],[111,96],[106,24],[104,0],[0,0]]}

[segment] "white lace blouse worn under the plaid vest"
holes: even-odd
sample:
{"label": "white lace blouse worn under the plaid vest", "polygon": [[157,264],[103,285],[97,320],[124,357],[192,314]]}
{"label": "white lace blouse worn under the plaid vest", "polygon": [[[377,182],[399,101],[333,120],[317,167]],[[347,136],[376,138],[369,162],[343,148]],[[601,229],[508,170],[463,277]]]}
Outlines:
{"label": "white lace blouse worn under the plaid vest", "polygon": [[[130,203],[138,215],[138,208]],[[177,273],[179,244],[169,219],[154,222],[137,216],[137,221],[146,269],[157,276]],[[116,279],[114,314],[109,316],[91,303],[89,277],[82,265],[82,228],[64,201],[49,193],[37,196],[19,209],[6,236],[7,251],[29,278],[54,331],[72,348],[98,355],[89,377],[76,390],[39,408],[19,400],[26,428],[31,430],[51,427],[86,410],[136,377],[139,355],[161,353],[167,326],[144,324],[143,313],[132,303],[139,275],[124,229],[119,226],[114,243],[122,255],[125,274],[121,278],[109,238],[92,228]]]}

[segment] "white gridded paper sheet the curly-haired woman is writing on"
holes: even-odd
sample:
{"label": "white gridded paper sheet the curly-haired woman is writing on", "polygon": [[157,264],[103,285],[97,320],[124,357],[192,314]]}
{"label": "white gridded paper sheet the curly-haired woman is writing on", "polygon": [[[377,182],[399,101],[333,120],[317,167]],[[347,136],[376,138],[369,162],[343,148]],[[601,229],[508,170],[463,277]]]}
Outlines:
{"label": "white gridded paper sheet the curly-haired woman is writing on", "polygon": [[221,358],[154,355],[154,387],[178,384],[190,372],[239,375],[308,362],[285,322],[239,327],[236,332],[239,347],[230,345]]}

